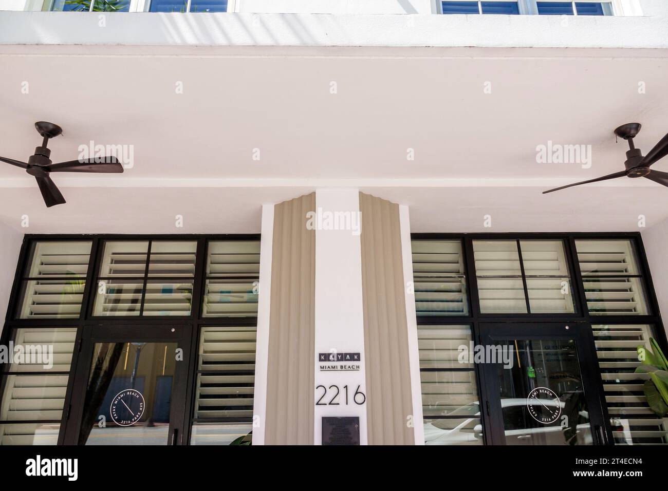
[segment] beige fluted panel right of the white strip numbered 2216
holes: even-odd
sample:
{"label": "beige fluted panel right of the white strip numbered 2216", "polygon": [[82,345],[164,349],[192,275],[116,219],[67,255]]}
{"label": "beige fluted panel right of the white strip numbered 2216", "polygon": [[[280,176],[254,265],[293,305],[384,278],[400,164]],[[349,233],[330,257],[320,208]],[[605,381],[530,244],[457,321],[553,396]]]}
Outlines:
{"label": "beige fluted panel right of the white strip numbered 2216", "polygon": [[[369,445],[415,442],[399,206],[359,194]],[[420,422],[421,424],[422,422]]]}

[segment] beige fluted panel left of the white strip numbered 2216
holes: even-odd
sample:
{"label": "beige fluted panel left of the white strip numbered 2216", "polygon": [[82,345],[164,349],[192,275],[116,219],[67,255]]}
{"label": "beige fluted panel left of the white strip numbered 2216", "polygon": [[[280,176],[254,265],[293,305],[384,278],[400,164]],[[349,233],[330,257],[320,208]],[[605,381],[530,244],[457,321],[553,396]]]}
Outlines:
{"label": "beige fluted panel left of the white strip numbered 2216", "polygon": [[315,193],[274,208],[265,444],[312,445]]}

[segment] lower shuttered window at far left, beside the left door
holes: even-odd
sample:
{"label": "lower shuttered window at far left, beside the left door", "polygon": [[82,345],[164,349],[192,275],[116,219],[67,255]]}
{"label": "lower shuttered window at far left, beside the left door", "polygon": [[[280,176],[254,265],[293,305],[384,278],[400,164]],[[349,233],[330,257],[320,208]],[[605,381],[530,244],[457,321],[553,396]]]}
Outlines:
{"label": "lower shuttered window at far left, beside the left door", "polygon": [[14,345],[23,357],[15,357],[3,373],[1,445],[57,443],[76,332],[75,327],[17,329]]}

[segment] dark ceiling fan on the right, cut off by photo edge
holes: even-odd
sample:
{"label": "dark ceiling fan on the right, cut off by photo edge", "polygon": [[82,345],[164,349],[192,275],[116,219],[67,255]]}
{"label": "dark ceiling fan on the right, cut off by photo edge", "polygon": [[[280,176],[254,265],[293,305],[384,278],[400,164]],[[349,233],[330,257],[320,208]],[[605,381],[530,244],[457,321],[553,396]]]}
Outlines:
{"label": "dark ceiling fan on the right, cut off by photo edge", "polygon": [[624,162],[626,170],[620,170],[614,174],[608,174],[607,176],[598,177],[596,179],[576,182],[574,184],[568,184],[567,186],[561,186],[560,188],[550,189],[543,191],[542,194],[545,194],[546,192],[558,191],[564,188],[570,188],[572,186],[579,186],[580,184],[605,181],[623,176],[630,178],[644,177],[653,180],[654,182],[658,182],[659,184],[663,184],[663,186],[668,186],[668,172],[661,172],[660,170],[653,170],[649,168],[649,166],[668,155],[668,134],[659,140],[659,143],[657,143],[654,148],[649,151],[649,154],[643,157],[640,149],[635,148],[633,145],[633,138],[635,138],[635,136],[638,134],[640,128],[640,123],[627,123],[623,124],[615,130],[615,134],[619,136],[619,138],[624,138],[624,140],[629,142],[627,160]]}

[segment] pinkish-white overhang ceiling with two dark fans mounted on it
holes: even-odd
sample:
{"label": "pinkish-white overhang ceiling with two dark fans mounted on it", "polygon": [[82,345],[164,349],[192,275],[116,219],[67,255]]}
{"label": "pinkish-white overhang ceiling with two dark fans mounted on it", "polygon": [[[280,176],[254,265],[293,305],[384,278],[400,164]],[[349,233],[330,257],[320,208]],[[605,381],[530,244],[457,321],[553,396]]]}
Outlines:
{"label": "pinkish-white overhang ceiling with two dark fans mounted on it", "polygon": [[[645,153],[668,132],[665,51],[54,53],[0,52],[0,155],[27,160],[41,140],[33,123],[47,120],[65,131],[50,144],[54,161],[94,140],[134,146],[134,168],[54,175],[67,204],[47,209],[32,178],[1,165],[0,221],[19,227],[28,214],[27,232],[258,232],[261,204],[329,186],[410,205],[415,232],[483,230],[484,214],[488,231],[636,230],[639,214],[648,225],[668,216],[668,189],[642,179],[540,194],[623,170],[620,124],[643,124]],[[548,140],[591,144],[593,165],[537,164]],[[656,168],[668,171],[668,159]]]}

